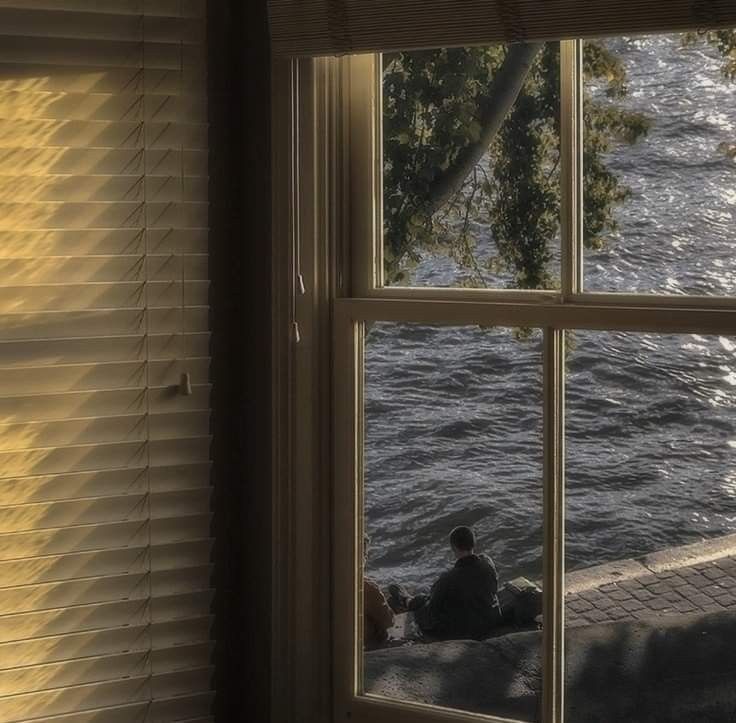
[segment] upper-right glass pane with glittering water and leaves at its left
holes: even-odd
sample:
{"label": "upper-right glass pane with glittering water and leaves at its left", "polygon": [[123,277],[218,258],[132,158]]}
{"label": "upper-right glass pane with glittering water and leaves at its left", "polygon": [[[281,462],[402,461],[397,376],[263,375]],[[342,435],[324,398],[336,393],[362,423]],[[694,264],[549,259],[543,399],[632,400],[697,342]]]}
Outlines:
{"label": "upper-right glass pane with glittering water and leaves at its left", "polygon": [[585,44],[588,291],[736,294],[736,32]]}

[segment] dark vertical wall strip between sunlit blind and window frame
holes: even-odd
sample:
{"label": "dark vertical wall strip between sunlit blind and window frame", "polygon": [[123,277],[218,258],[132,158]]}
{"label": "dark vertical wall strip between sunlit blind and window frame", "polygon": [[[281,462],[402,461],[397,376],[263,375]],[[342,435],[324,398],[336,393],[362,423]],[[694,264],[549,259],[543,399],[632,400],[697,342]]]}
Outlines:
{"label": "dark vertical wall strip between sunlit blind and window frame", "polygon": [[218,723],[270,718],[271,253],[266,0],[209,2]]}

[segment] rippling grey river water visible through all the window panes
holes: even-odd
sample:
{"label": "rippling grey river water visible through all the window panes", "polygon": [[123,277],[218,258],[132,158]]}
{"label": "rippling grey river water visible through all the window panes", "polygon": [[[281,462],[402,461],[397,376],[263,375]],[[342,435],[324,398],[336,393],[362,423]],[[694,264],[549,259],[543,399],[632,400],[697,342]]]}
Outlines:
{"label": "rippling grey river water visible through all the window panes", "polygon": [[[606,248],[586,252],[586,288],[736,294],[736,163],[721,149],[736,144],[736,83],[676,36],[612,48],[625,104],[654,123],[611,156],[633,196]],[[456,273],[428,258],[416,282]],[[567,385],[569,569],[736,531],[736,338],[577,332]],[[431,582],[449,530],[473,524],[502,577],[539,577],[538,334],[375,325],[366,425],[371,575]]]}

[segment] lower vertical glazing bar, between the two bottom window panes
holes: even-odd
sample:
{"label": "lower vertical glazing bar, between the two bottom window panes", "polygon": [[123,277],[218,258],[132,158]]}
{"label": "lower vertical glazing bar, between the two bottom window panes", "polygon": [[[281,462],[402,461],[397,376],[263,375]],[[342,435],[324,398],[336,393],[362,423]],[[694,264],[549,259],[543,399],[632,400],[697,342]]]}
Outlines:
{"label": "lower vertical glazing bar, between the two bottom window panes", "polygon": [[562,723],[564,709],[564,333],[544,331],[544,723]]}

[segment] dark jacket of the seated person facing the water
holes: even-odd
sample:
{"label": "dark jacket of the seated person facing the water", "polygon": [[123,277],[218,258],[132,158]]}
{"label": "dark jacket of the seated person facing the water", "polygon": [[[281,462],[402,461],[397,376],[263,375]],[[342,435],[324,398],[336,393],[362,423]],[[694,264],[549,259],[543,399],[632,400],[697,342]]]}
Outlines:
{"label": "dark jacket of the seated person facing the water", "polygon": [[497,592],[496,566],[488,555],[461,557],[432,586],[415,619],[435,638],[479,640],[498,623]]}

